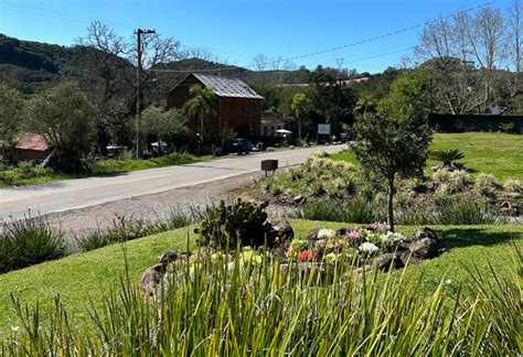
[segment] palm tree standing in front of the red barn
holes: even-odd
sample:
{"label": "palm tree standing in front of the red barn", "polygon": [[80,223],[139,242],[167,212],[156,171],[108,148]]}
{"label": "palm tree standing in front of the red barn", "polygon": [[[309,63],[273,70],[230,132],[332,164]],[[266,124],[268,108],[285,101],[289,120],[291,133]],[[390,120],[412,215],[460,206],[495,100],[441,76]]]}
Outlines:
{"label": "palm tree standing in front of the red barn", "polygon": [[183,105],[183,111],[189,117],[200,117],[200,133],[205,134],[205,119],[214,117],[218,110],[218,101],[212,87],[194,85],[189,89],[191,99]]}

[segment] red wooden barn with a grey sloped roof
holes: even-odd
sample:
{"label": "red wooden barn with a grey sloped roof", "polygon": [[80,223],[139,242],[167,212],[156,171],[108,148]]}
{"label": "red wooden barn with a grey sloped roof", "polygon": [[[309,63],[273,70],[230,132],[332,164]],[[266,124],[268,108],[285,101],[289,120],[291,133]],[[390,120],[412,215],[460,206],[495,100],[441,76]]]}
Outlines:
{"label": "red wooden barn with a grey sloped roof", "polygon": [[[169,91],[168,108],[181,109],[191,99],[189,90],[194,85],[212,87],[218,98],[217,115],[209,118],[204,132],[206,137],[217,137],[223,130],[233,129],[238,137],[259,139],[264,97],[238,78],[191,73]],[[200,131],[199,118],[189,118],[188,125],[194,133]]]}

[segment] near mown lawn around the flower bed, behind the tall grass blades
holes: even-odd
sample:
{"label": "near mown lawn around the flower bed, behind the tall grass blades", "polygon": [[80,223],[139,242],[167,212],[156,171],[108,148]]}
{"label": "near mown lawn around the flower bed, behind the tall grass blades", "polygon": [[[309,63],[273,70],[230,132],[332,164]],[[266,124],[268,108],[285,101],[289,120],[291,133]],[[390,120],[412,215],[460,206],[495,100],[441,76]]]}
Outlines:
{"label": "near mown lawn around the flower bed, behind the tall grass blades", "polygon": [[[340,223],[291,219],[297,236],[305,236],[311,228],[340,228]],[[399,227],[404,232],[414,232],[417,227]],[[414,275],[423,272],[421,291],[429,293],[445,275],[456,286],[467,275],[463,266],[488,268],[490,261],[502,274],[506,269],[511,242],[523,248],[523,226],[461,226],[435,227],[446,245],[452,248],[444,256],[409,268]],[[189,238],[189,239],[188,239]],[[169,249],[186,250],[194,247],[192,227],[162,232],[127,244],[127,257],[131,281],[138,282],[141,272],[157,262],[158,256]],[[23,303],[34,305],[36,301],[43,316],[49,316],[53,299],[60,294],[73,324],[88,327],[89,301],[100,305],[100,296],[109,286],[117,286],[125,274],[122,247],[114,245],[90,252],[71,256],[62,260],[33,266],[0,275],[0,336],[9,334],[18,320],[11,307],[11,293]]]}

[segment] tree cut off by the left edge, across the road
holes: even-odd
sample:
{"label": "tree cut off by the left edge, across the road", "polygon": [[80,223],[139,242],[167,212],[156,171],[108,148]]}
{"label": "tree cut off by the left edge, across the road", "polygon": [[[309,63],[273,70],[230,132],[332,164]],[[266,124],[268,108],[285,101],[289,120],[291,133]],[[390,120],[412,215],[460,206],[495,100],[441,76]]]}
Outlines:
{"label": "tree cut off by the left edge, across the road", "polygon": [[22,95],[17,89],[0,85],[0,140],[4,142],[3,153],[11,162],[23,127]]}

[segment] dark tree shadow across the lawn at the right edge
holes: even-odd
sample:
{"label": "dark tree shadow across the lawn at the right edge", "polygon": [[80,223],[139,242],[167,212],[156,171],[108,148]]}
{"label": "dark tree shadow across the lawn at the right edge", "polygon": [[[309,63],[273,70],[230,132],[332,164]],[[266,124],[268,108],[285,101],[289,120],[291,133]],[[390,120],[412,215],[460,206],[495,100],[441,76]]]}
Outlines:
{"label": "dark tree shadow across the lawn at the right edge", "polygon": [[516,241],[523,238],[523,232],[491,231],[482,228],[455,228],[441,231],[441,238],[447,248],[491,247]]}

